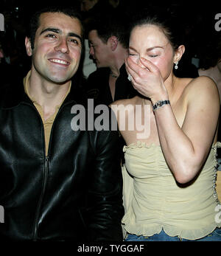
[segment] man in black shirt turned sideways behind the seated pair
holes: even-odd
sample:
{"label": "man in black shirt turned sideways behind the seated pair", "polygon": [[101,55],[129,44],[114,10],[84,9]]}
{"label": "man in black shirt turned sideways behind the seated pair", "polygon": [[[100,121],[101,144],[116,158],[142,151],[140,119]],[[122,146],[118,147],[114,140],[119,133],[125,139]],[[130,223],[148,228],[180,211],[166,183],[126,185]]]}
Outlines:
{"label": "man in black shirt turned sideways behind the seated pair", "polygon": [[88,24],[90,54],[97,71],[88,77],[88,98],[109,105],[115,100],[134,97],[136,90],[127,80],[124,59],[128,55],[128,24],[117,12],[94,18]]}

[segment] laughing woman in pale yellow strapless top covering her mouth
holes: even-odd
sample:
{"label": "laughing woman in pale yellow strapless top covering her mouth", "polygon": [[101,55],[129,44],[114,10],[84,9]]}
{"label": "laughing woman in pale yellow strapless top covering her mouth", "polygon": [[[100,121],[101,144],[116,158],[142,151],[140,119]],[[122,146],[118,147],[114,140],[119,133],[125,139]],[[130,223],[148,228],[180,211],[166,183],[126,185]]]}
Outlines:
{"label": "laughing woman in pale yellow strapless top covering her mouth", "polygon": [[[125,241],[221,241],[221,207],[214,185],[217,86],[208,77],[173,75],[185,47],[166,22],[163,16],[150,15],[133,25],[125,64],[138,96],[111,106],[127,143]],[[141,136],[147,120],[150,131]]]}

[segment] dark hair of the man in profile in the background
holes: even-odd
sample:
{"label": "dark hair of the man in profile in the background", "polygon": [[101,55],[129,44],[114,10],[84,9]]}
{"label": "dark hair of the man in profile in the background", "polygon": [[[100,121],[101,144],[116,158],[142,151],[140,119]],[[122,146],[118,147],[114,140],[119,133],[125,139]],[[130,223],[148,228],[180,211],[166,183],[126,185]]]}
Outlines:
{"label": "dark hair of the man in profile in the background", "polygon": [[105,13],[105,15],[94,15],[87,24],[86,32],[88,34],[91,30],[97,30],[97,35],[105,44],[107,44],[108,38],[114,35],[122,46],[127,49],[129,45],[127,27],[125,18],[120,17],[119,13],[111,12]]}

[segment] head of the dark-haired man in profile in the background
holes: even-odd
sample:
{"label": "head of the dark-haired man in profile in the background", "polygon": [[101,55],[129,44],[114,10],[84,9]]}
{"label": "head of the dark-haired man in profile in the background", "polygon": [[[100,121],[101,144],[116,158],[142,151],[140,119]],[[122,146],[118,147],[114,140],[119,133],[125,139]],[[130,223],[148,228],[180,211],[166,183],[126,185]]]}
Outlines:
{"label": "head of the dark-haired man in profile in the background", "polygon": [[97,67],[122,66],[129,34],[126,22],[113,13],[99,15],[88,24],[90,55]]}

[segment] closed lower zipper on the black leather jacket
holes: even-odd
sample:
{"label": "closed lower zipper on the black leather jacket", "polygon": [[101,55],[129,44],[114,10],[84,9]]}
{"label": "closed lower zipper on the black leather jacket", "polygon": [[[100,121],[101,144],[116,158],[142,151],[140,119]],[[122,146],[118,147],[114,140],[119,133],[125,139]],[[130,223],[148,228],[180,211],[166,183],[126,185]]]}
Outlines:
{"label": "closed lower zipper on the black leather jacket", "polygon": [[43,196],[44,196],[44,193],[46,190],[46,182],[47,182],[47,178],[48,178],[48,173],[49,173],[49,156],[46,156],[44,159],[44,173],[43,173],[43,185],[42,185],[42,190],[41,190],[41,196],[38,201],[38,208],[37,208],[37,213],[35,216],[34,241],[37,241],[37,238],[38,238],[38,219],[39,219],[39,215],[40,215]]}

